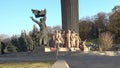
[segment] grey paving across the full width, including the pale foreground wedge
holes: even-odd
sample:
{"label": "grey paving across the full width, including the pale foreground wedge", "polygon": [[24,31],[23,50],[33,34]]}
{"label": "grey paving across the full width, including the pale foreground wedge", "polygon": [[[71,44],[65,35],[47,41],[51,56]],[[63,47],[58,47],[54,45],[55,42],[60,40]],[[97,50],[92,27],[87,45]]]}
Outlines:
{"label": "grey paving across the full width, including the pale foreground wedge", "polygon": [[[9,54],[8,54],[9,55]],[[27,57],[0,57],[0,62],[5,61],[43,61],[55,60],[55,55],[44,54],[40,56]],[[100,56],[87,55],[79,53],[67,53],[58,56],[58,61],[52,66],[53,68],[120,68],[120,56]],[[68,65],[67,65],[68,64]]]}

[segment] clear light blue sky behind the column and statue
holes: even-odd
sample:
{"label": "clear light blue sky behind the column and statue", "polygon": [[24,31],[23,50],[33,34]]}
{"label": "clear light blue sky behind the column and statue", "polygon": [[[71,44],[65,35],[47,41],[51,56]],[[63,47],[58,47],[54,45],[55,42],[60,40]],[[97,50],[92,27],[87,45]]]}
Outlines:
{"label": "clear light blue sky behind the column and statue", "polygon": [[[109,13],[119,0],[79,0],[79,19],[99,12]],[[47,26],[61,25],[60,0],[0,0],[0,34],[20,35],[22,30],[31,31],[35,24],[30,17],[31,9],[47,9]],[[39,19],[37,19],[39,20]],[[38,25],[36,24],[38,27]],[[39,28],[39,27],[38,27]]]}

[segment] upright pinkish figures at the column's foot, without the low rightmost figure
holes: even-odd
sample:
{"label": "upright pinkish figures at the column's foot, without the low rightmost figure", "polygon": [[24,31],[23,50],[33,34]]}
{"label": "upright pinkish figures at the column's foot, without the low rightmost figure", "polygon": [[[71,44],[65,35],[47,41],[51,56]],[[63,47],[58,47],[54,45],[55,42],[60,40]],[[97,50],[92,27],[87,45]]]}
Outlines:
{"label": "upright pinkish figures at the column's foot, without the low rightmost figure", "polygon": [[58,44],[60,47],[79,48],[80,37],[74,31],[55,31],[53,35],[55,46]]}

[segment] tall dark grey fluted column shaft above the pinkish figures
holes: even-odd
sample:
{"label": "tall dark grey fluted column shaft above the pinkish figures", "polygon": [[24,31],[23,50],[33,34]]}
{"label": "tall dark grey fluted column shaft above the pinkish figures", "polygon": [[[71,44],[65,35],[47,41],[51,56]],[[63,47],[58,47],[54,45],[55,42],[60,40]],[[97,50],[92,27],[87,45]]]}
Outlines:
{"label": "tall dark grey fluted column shaft above the pinkish figures", "polygon": [[62,29],[79,33],[78,0],[61,0]]}

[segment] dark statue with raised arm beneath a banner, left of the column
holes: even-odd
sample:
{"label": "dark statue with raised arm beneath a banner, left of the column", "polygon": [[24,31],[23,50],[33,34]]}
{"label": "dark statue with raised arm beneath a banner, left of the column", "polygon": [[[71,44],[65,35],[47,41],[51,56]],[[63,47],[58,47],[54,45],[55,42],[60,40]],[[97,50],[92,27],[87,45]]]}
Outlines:
{"label": "dark statue with raised arm beneath a banner, left of the column", "polygon": [[[37,10],[36,10],[37,11]],[[43,12],[43,11],[42,11]],[[39,14],[40,12],[38,12]],[[39,32],[39,45],[47,45],[47,27],[46,27],[46,9],[44,10],[44,13],[42,14],[43,18],[40,18],[40,21],[35,20],[33,17],[30,17],[32,21],[34,21],[36,24],[39,25],[40,27],[40,32]]]}

